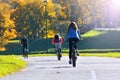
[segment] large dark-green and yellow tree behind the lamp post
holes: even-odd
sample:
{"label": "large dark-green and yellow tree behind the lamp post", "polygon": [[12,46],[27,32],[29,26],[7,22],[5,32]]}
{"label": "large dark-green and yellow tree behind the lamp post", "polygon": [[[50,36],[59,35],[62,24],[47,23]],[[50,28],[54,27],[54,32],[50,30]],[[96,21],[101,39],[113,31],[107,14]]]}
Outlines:
{"label": "large dark-green and yellow tree behind the lamp post", "polygon": [[[16,30],[20,35],[27,35],[30,38],[34,38],[37,35],[39,35],[38,37],[44,37],[46,29],[45,3],[41,0],[25,0],[21,3],[18,1],[14,1],[14,4],[12,4],[16,5],[16,10],[12,15]],[[49,1],[47,5],[47,22],[49,28],[52,18],[56,17],[56,12],[54,11],[52,1]]]}

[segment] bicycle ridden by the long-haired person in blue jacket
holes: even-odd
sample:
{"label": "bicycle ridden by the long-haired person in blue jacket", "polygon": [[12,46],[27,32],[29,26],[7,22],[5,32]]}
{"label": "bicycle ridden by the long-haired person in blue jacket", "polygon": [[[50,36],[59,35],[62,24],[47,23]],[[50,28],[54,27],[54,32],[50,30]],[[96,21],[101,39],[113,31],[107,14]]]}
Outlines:
{"label": "bicycle ridden by the long-haired person in blue jacket", "polygon": [[77,61],[77,51],[75,49],[75,41],[72,41],[71,63],[73,67],[76,67],[76,61]]}

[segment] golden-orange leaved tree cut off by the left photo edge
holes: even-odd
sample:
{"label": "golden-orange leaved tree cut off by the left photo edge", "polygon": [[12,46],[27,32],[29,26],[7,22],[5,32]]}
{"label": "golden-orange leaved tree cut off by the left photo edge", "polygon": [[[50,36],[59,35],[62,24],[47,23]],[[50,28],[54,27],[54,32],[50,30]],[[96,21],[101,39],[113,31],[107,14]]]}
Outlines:
{"label": "golden-orange leaved tree cut off by the left photo edge", "polygon": [[0,2],[0,51],[5,50],[8,41],[16,37],[14,21],[10,18],[11,13],[10,6]]}

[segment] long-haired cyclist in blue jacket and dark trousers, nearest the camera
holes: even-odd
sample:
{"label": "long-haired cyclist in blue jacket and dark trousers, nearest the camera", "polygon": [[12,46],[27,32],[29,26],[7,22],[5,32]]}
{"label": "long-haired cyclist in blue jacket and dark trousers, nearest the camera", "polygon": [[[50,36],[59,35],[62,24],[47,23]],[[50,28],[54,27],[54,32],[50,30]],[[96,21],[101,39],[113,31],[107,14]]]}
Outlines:
{"label": "long-haired cyclist in blue jacket and dark trousers, nearest the camera", "polygon": [[[72,41],[75,42],[75,49],[77,49],[77,42],[81,39],[81,34],[78,31],[78,26],[75,22],[71,22],[68,26],[66,40],[69,41],[69,64],[71,64]],[[77,53],[79,55],[79,53]]]}

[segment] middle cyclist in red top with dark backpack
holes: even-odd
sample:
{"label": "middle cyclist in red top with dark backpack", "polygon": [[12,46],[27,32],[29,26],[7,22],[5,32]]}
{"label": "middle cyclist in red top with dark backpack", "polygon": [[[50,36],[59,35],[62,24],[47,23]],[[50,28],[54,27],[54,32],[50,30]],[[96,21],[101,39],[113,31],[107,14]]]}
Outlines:
{"label": "middle cyclist in red top with dark backpack", "polygon": [[61,53],[62,37],[60,37],[59,34],[54,35],[54,38],[52,38],[52,44],[54,45],[54,48],[57,46],[60,49],[60,53]]}

